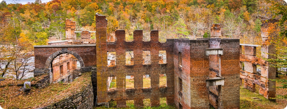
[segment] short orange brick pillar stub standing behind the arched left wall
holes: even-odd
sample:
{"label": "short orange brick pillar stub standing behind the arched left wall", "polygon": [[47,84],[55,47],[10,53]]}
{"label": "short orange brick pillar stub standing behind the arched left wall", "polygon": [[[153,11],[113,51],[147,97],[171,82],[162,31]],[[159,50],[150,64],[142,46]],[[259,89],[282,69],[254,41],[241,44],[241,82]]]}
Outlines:
{"label": "short orange brick pillar stub standing behind the arched left wall", "polygon": [[66,30],[66,40],[75,39],[76,38],[76,22],[70,19],[66,19],[65,21],[65,30]]}

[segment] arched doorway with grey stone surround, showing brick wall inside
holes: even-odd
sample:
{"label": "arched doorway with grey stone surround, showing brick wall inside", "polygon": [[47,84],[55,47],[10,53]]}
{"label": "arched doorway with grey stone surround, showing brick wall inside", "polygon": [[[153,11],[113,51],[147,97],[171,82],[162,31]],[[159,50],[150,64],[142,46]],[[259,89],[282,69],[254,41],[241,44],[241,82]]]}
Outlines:
{"label": "arched doorway with grey stone surround, showing brick wall inside", "polygon": [[[56,62],[53,62],[55,59]],[[75,68],[74,65],[77,66],[75,61],[79,62],[80,68],[85,67],[82,57],[73,51],[67,50],[67,48],[62,48],[62,50],[50,55],[45,63],[45,68],[50,70],[50,83],[71,81],[73,78],[73,70],[71,69]]]}

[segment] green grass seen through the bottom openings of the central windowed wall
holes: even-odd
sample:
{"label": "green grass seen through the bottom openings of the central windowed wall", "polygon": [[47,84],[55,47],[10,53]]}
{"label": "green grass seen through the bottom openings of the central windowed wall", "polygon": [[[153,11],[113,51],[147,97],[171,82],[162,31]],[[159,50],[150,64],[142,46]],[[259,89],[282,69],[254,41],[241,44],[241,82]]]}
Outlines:
{"label": "green grass seen through the bottom openings of the central windowed wall", "polygon": [[[144,99],[144,107],[142,109],[177,109],[175,105],[166,105],[166,98],[160,98],[160,106],[157,107],[151,107],[150,106],[150,99]],[[109,102],[109,108],[108,109],[139,109],[135,107],[134,100],[127,100],[126,101],[126,108],[117,108],[117,102],[116,101],[110,101]],[[93,107],[93,109],[107,109],[107,107]]]}

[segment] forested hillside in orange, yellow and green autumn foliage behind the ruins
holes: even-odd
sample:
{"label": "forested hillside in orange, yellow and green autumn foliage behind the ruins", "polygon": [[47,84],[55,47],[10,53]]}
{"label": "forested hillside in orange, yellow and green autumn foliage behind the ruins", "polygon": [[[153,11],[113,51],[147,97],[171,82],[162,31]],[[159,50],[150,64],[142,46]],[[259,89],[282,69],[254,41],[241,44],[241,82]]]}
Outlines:
{"label": "forested hillside in orange, yellow and green autumn foliage behind the ruins", "polygon": [[150,40],[150,30],[159,30],[160,42],[209,37],[210,25],[220,23],[224,38],[260,44],[261,20],[280,17],[274,17],[270,6],[265,0],[36,0],[25,5],[2,1],[0,34],[6,42],[45,45],[48,39],[65,40],[66,18],[77,22],[77,31],[94,30],[94,16],[100,13],[107,16],[108,35],[124,29],[128,40],[136,29],[144,30],[144,40]]}

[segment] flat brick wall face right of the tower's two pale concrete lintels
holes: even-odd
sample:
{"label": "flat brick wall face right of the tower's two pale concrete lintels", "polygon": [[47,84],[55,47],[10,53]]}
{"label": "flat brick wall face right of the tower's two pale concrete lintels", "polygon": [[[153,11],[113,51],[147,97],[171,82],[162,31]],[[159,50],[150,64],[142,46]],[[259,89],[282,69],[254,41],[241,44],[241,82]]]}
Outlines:
{"label": "flat brick wall face right of the tower's two pale concrete lintels", "polygon": [[221,86],[219,106],[227,109],[239,108],[239,39],[221,39],[220,48],[223,48],[223,55],[220,56],[220,66],[221,77],[224,77],[224,86]]}

